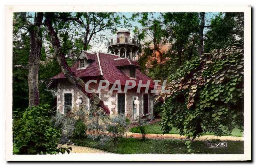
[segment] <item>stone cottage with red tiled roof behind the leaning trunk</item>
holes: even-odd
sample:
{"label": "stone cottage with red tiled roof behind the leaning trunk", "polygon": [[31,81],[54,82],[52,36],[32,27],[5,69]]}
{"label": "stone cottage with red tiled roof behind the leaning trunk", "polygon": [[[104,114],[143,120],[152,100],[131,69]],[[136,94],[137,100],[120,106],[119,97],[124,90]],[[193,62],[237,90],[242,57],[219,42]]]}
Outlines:
{"label": "stone cottage with red tiled roof behind the leaning trunk", "polygon": [[[138,46],[134,43],[131,43],[132,46],[130,46],[127,41],[124,40],[125,44],[121,45],[119,40],[117,47],[120,47],[121,50],[127,50],[126,48],[130,47],[131,50],[133,49],[133,53],[136,52]],[[111,49],[111,46],[109,48]],[[119,54],[81,51],[71,70],[85,83],[90,82],[89,86],[95,89],[95,93],[109,108],[110,114],[124,114],[129,119],[133,119],[136,114],[150,113],[153,115],[153,101],[157,94],[151,93],[154,89],[154,82],[140,71],[138,63],[132,61],[135,55],[132,53],[127,55],[126,51],[122,57],[120,57],[120,51]],[[97,91],[100,80],[107,80],[109,86]],[[136,84],[133,88],[124,90],[127,80],[132,80],[131,82]],[[90,100],[77,87],[69,83],[63,73],[54,76],[51,82],[55,84],[58,92],[57,110],[59,112],[65,114],[68,109],[77,107],[81,103],[90,110]],[[113,86],[119,86],[122,90],[116,88],[113,90]],[[140,90],[138,91],[138,89]],[[135,108],[136,106],[138,109]]]}

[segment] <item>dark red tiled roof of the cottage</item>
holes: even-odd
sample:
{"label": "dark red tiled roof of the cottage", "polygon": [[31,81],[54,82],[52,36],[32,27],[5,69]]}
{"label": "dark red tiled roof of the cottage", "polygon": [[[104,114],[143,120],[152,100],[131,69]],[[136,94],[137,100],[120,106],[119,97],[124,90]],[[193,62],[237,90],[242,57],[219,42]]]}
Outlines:
{"label": "dark red tiled roof of the cottage", "polygon": [[[125,85],[126,80],[135,80],[136,86],[138,85],[139,80],[142,80],[142,84],[146,84],[147,81],[150,80],[150,88],[154,87],[153,80],[148,76],[146,76],[145,74],[143,74],[139,69],[136,69],[136,79],[132,79],[126,74],[124,74],[124,72],[122,72],[116,66],[116,61],[121,61],[122,64],[129,63],[129,65],[133,64],[136,66],[140,66],[135,61],[128,60],[127,58],[124,58],[126,60],[115,60],[120,57],[117,55],[101,53],[101,52],[98,53],[98,56],[97,56],[97,53],[85,52],[85,54],[87,56],[89,55],[91,59],[94,58],[94,60],[90,62],[90,64],[86,69],[78,69],[79,61],[77,61],[76,64],[71,67],[71,70],[78,77],[103,76],[103,78],[108,80],[110,83],[114,83],[116,80],[120,80],[121,85]],[[100,62],[98,61],[98,59],[100,60]],[[60,73],[54,76],[52,79],[60,79],[60,78],[65,78],[63,73]]]}

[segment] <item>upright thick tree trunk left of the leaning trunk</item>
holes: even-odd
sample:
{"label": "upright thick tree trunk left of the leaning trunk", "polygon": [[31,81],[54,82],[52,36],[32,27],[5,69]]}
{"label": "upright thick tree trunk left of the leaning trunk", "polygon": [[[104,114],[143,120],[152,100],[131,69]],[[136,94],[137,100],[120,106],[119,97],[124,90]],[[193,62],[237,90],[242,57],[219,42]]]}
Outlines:
{"label": "upright thick tree trunk left of the leaning trunk", "polygon": [[40,65],[42,38],[41,25],[44,13],[35,14],[35,23],[30,27],[30,54],[28,57],[29,107],[39,105],[38,71]]}

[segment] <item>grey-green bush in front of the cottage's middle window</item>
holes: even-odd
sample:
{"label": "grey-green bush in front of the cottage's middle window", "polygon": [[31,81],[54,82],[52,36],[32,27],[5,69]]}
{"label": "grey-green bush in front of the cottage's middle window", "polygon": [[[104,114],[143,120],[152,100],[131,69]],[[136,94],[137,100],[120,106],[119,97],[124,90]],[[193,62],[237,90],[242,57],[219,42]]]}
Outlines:
{"label": "grey-green bush in front of the cottage's middle window", "polygon": [[128,130],[128,123],[124,116],[111,117],[110,123],[107,124],[107,131],[112,137],[114,145],[117,144],[119,138],[124,137],[125,132]]}

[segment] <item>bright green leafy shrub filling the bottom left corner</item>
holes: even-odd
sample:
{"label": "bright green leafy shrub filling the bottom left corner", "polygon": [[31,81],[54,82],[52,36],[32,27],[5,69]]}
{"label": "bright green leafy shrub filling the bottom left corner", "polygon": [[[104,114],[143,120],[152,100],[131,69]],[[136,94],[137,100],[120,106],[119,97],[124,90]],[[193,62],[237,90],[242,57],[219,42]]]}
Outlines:
{"label": "bright green leafy shrub filling the bottom left corner", "polygon": [[57,154],[60,130],[52,127],[48,105],[28,108],[13,123],[14,154]]}

